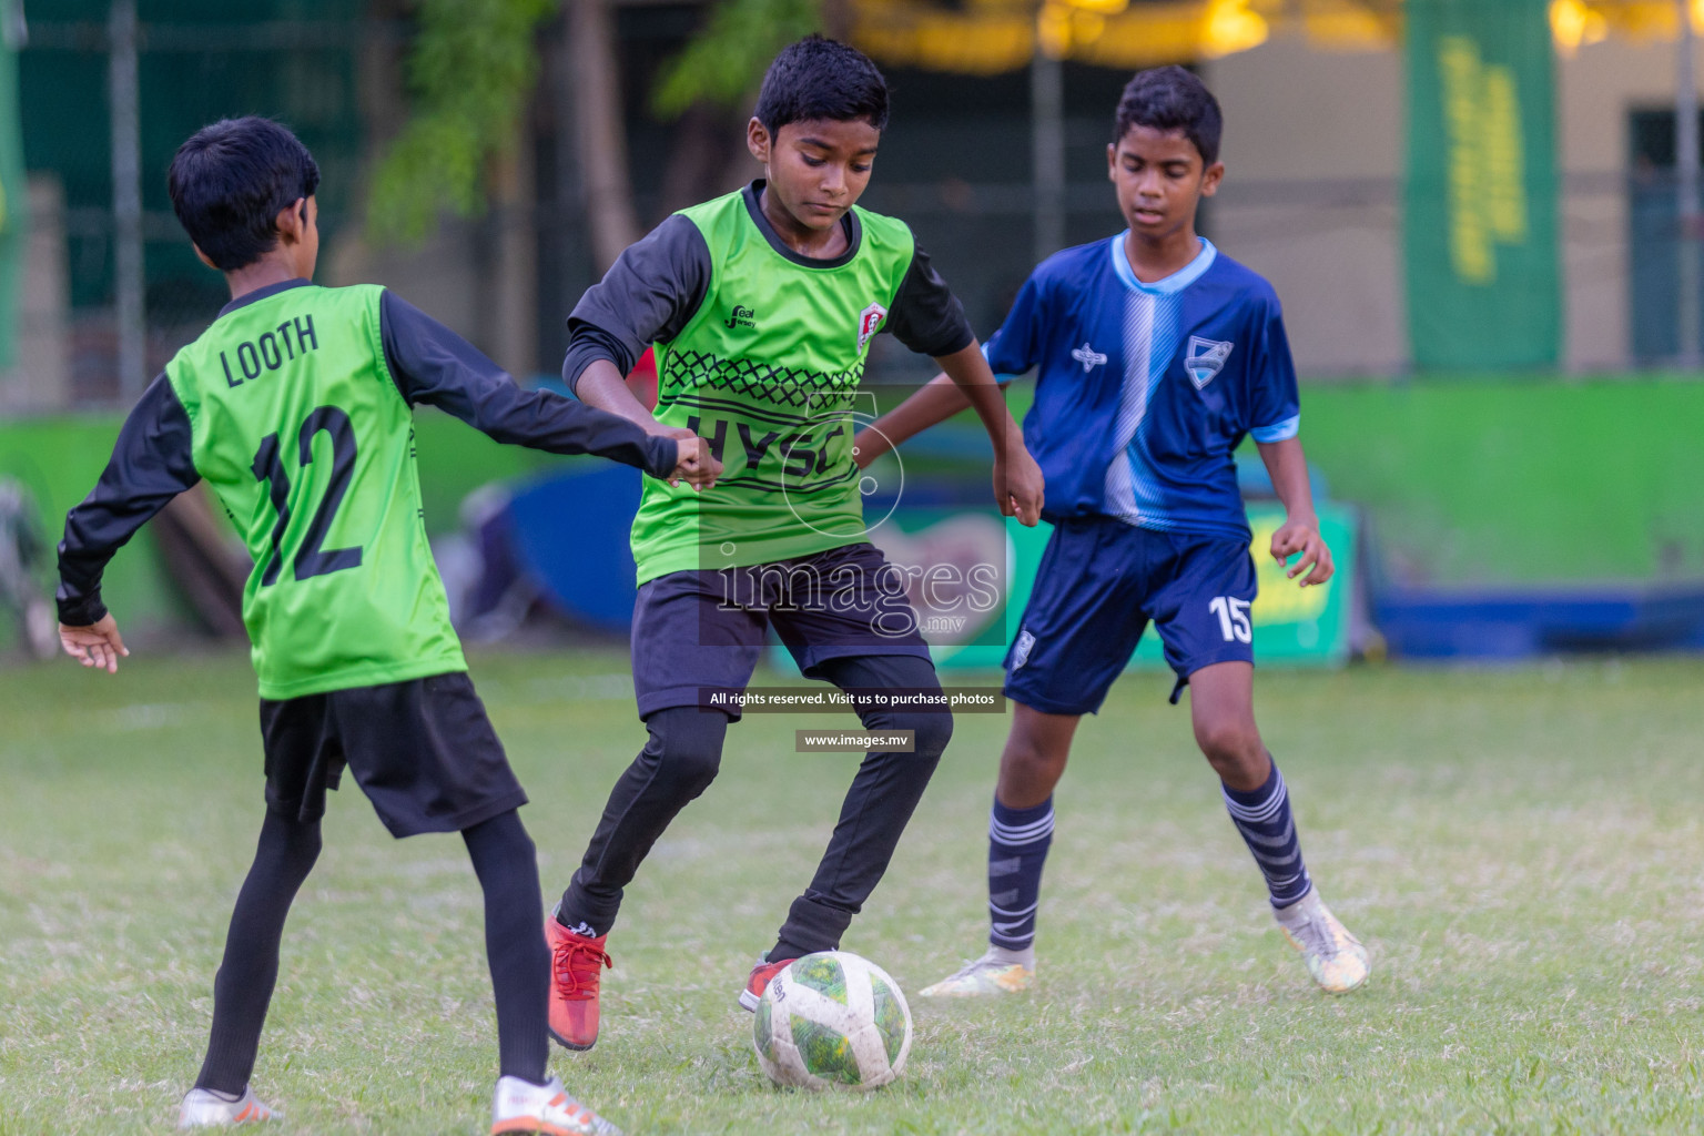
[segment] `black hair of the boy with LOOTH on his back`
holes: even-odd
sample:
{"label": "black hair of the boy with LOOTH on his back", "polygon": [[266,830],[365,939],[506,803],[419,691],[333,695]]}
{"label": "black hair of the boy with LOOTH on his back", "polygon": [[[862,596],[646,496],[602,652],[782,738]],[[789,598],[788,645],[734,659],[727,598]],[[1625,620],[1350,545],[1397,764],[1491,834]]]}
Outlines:
{"label": "black hair of the boy with LOOTH on his back", "polygon": [[227,118],[177,146],[165,175],[189,240],[225,273],[278,244],[274,218],[319,189],[319,165],[290,129],[268,118]]}

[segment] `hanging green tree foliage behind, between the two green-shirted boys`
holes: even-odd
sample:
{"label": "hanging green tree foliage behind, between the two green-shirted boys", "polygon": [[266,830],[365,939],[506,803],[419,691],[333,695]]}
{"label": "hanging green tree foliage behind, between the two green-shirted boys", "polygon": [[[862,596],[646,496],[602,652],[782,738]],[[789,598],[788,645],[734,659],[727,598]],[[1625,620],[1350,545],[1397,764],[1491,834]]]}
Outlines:
{"label": "hanging green tree foliage behind, between the two green-shirted boys", "polygon": [[[581,0],[569,0],[581,2]],[[373,172],[366,227],[378,240],[424,240],[445,206],[486,204],[492,158],[538,77],[535,32],[559,0],[421,0],[409,49],[412,114]]]}

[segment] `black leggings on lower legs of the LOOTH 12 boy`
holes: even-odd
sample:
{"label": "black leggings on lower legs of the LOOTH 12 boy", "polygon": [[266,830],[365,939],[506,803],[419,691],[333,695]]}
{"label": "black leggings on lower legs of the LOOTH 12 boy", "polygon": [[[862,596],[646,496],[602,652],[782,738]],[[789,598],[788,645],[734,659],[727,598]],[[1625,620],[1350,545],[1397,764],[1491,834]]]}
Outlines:
{"label": "black leggings on lower legs of the LOOTH 12 boy", "polygon": [[[538,860],[509,809],[462,831],[486,892],[486,955],[498,1000],[504,1076],[545,1080],[550,952],[538,932]],[[196,1088],[240,1093],[254,1073],[266,1007],[278,983],[278,944],[290,904],[320,852],[319,821],[268,812],[254,867],[237,894],[225,961],[213,979],[213,1034]]]}

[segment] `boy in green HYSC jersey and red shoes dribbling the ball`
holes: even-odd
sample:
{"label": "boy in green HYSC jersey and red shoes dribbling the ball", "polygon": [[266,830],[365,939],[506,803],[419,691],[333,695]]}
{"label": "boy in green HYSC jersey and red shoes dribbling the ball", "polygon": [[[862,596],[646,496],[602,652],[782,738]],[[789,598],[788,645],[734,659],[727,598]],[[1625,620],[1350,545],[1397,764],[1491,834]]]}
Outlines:
{"label": "boy in green HYSC jersey and red shoes dribbling the ball", "polygon": [[[786,48],[746,133],[763,179],[663,221],[569,317],[562,376],[584,402],[653,434],[702,434],[726,462],[702,494],[648,484],[634,518],[632,666],[649,743],[545,920],[550,1032],[571,1049],[598,1037],[622,889],[716,777],[770,625],[806,676],[901,695],[859,715],[872,731],[912,731],[913,751],[864,758],[745,1008],[791,959],[838,947],[947,744],[949,714],[898,707],[941,688],[905,576],[869,543],[852,460],[852,400],[876,332],[935,358],[993,441],[1000,511],[1026,525],[1039,514],[1039,468],[963,308],[901,221],[855,206],[886,123],[888,89],[867,58],[815,36]],[[646,344],[654,416],[622,382]]]}

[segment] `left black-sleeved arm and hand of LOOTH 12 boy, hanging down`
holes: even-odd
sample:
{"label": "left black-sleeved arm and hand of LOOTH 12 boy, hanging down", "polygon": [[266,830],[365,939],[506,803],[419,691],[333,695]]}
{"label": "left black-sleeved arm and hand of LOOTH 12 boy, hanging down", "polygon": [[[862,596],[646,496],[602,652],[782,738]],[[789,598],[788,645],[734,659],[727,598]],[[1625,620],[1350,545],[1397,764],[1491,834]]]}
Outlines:
{"label": "left black-sleeved arm and hand of LOOTH 12 boy, hanging down", "polygon": [[101,576],[148,518],[201,480],[191,446],[189,416],[160,375],[124,419],[101,480],[65,518],[56,593],[60,644],[83,666],[111,674],[130,654],[118,622],[101,603]]}

